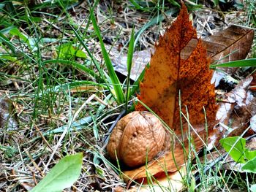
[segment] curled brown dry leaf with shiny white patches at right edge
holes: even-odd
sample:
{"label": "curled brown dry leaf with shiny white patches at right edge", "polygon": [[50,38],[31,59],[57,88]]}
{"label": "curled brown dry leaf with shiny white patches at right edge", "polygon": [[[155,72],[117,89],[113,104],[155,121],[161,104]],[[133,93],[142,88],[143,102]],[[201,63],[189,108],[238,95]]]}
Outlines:
{"label": "curled brown dry leaf with shiny white patches at right edge", "polygon": [[[240,136],[249,126],[252,116],[256,115],[256,98],[248,90],[251,82],[252,77],[241,80],[236,88],[225,94],[225,98],[219,104],[217,120],[230,128],[227,132],[222,124],[218,128],[222,134],[226,132],[227,137]],[[252,123],[251,126],[253,128]],[[253,131],[249,129],[244,136],[251,134]]]}

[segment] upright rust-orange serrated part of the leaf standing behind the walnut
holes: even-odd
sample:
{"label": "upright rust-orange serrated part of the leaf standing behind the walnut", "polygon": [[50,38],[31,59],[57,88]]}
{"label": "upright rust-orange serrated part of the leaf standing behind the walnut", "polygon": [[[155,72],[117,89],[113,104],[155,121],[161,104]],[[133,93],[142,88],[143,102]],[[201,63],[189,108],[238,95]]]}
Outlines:
{"label": "upright rust-orange serrated part of the leaf standing behind the walnut", "polygon": [[[197,45],[189,57],[183,59],[181,53],[191,39],[196,39]],[[197,39],[187,9],[183,6],[177,20],[156,45],[150,68],[140,85],[138,99],[181,136],[179,99],[184,114],[187,114],[187,107],[189,122],[193,126],[205,126],[203,107],[206,109],[208,122],[215,122],[217,105],[211,76],[206,48]],[[138,104],[136,109],[145,110],[142,104]],[[186,122],[183,119],[183,123]]]}

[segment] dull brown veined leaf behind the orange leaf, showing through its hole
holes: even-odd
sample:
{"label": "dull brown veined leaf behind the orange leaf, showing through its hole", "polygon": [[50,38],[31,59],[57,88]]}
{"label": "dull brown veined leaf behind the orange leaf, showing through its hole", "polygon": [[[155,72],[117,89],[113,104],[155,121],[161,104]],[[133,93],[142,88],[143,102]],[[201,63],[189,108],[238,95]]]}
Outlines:
{"label": "dull brown veined leaf behind the orange leaf, showing through its hole", "polygon": [[[211,58],[211,64],[219,60],[220,63],[224,63],[246,58],[252,46],[253,37],[252,29],[230,26],[217,34],[206,37],[202,42],[206,46],[208,57]],[[192,39],[182,57],[187,58],[196,44],[197,41]]]}

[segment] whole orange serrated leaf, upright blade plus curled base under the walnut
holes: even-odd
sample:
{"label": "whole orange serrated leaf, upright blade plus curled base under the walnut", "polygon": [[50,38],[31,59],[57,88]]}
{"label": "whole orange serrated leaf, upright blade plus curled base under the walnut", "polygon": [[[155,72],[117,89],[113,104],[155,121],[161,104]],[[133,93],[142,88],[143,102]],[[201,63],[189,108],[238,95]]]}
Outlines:
{"label": "whole orange serrated leaf, upright blade plus curled base under the walnut", "polygon": [[[184,58],[183,52],[192,39],[197,40],[197,45],[192,53]],[[176,140],[172,145],[173,151],[169,148],[165,155],[151,161],[147,167],[141,166],[124,172],[127,178],[134,180],[165,170],[174,172],[187,161],[189,126],[185,118],[180,120],[179,99],[181,111],[187,115],[186,110],[188,110],[189,123],[195,128],[195,131],[190,129],[190,134],[196,151],[204,142],[208,142],[205,131],[206,117],[208,136],[215,134],[213,127],[216,123],[217,104],[214,85],[211,85],[213,72],[209,69],[210,61],[207,58],[206,48],[202,45],[201,39],[197,39],[197,33],[192,27],[192,22],[189,21],[184,4],[178,18],[170,28],[167,28],[165,35],[159,38],[159,43],[155,47],[150,68],[146,70],[144,81],[140,84],[138,99],[164,120],[184,145]],[[141,111],[146,108],[139,103],[136,110]]]}

